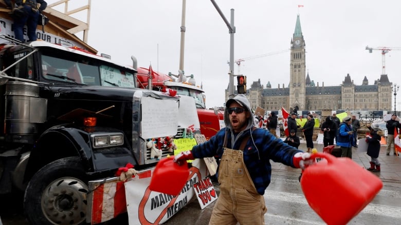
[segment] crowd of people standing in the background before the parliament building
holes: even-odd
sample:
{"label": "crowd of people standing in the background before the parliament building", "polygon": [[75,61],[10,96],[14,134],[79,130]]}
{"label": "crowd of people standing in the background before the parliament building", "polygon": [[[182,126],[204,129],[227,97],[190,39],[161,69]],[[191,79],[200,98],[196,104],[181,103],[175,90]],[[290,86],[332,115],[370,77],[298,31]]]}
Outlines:
{"label": "crowd of people standing in the background before the parliament building", "polygon": [[[296,120],[297,117],[298,114],[295,112],[292,112],[288,116],[287,129],[290,132],[289,135],[286,136],[286,138],[284,139],[284,142],[290,146],[298,148],[300,138],[297,136],[297,133],[298,130],[301,130],[302,137],[306,141],[306,152],[310,153],[314,148],[314,142],[313,142],[314,127],[315,127],[314,118],[319,118],[320,121],[320,115],[316,114],[315,112],[313,113],[308,112],[306,117],[306,122],[302,127],[299,124],[297,124]],[[263,128],[265,126],[265,128],[269,130],[270,133],[272,133],[276,137],[278,137],[276,135],[277,124],[278,124],[278,119],[275,112],[268,113],[266,119],[263,119],[263,116],[260,114],[260,112],[255,114],[254,126],[258,128]],[[375,124],[375,126],[376,125],[377,124]],[[323,134],[323,141],[322,141],[323,147],[336,145],[341,149],[341,157],[352,158],[352,147],[358,148],[357,140],[358,140],[358,130],[360,128],[361,124],[360,121],[356,118],[356,115],[346,116],[342,118],[342,120],[340,120],[340,118],[337,117],[337,113],[333,112],[331,116],[327,116],[324,119],[324,121],[320,126],[321,133]],[[391,116],[391,119],[387,121],[386,128],[388,130],[387,155],[390,155],[391,149],[393,149],[394,151],[393,154],[397,155],[394,148],[394,130],[395,128],[401,130],[401,126],[395,114],[393,114]],[[382,129],[374,130],[373,133],[376,134],[377,131],[379,131],[379,133],[381,134],[381,130]],[[374,136],[373,139],[377,138],[377,135],[368,135],[367,138],[371,138],[373,136]],[[370,143],[369,141],[367,142]],[[372,154],[371,151],[369,151],[369,154]],[[372,161],[376,162],[376,160],[374,159],[372,159]],[[377,170],[376,168],[375,171],[379,171],[379,169]]]}

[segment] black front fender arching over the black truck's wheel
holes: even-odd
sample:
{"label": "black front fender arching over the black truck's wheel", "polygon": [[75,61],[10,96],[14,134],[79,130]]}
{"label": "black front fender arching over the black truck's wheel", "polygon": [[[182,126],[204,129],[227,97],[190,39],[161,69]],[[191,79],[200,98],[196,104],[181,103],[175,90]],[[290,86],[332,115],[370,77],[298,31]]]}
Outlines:
{"label": "black front fender arching over the black truck's wheel", "polygon": [[[123,133],[111,128],[76,128],[55,126],[45,131],[31,150],[25,173],[28,181],[40,168],[65,157],[78,156],[88,174],[112,176],[116,169],[130,162],[136,165],[131,148],[124,141],[123,146],[93,149],[90,135],[94,133]],[[101,174],[101,175],[100,175]]]}

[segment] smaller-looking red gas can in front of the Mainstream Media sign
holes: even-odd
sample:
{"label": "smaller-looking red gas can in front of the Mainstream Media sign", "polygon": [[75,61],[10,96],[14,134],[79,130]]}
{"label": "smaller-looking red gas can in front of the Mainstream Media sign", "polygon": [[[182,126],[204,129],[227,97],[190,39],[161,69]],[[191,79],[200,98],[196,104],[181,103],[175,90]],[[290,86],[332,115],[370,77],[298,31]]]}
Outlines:
{"label": "smaller-looking red gas can in front of the Mainstream Media sign", "polygon": [[188,180],[188,163],[175,163],[174,157],[162,158],[153,171],[149,189],[170,195],[178,195]]}

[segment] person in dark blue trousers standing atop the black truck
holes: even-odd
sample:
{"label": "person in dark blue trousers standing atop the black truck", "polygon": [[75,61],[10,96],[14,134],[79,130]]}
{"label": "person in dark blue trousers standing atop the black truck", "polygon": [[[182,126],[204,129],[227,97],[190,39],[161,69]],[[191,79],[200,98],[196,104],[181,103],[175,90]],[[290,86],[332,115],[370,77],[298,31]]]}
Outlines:
{"label": "person in dark blue trousers standing atop the black truck", "polygon": [[47,3],[43,0],[15,0],[15,4],[17,5],[17,10],[13,12],[15,39],[25,42],[24,26],[26,24],[29,41],[37,40],[36,28],[39,14],[46,9]]}

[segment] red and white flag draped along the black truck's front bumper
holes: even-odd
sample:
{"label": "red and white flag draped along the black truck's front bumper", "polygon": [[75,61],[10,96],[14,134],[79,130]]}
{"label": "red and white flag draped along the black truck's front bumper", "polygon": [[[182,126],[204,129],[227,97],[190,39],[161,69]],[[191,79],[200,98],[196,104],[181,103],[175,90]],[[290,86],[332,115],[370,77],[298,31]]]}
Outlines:
{"label": "red and white flag draped along the black truck's front bumper", "polygon": [[[133,179],[152,176],[153,170],[139,172]],[[102,183],[93,191],[91,224],[111,220],[126,212],[124,181]]]}

